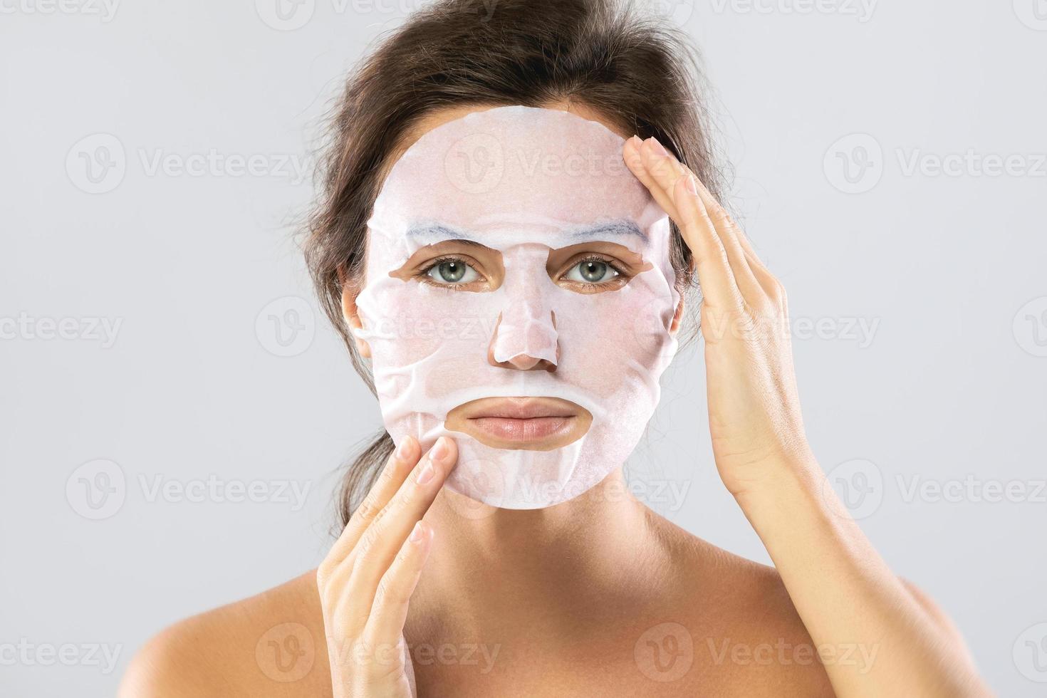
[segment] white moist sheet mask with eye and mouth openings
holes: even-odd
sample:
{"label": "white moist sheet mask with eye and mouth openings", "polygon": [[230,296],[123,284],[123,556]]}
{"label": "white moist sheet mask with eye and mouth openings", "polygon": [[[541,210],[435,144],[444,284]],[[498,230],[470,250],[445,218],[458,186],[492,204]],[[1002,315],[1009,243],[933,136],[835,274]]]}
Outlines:
{"label": "white moist sheet mask with eye and mouth openings", "polygon": [[[623,162],[623,144],[567,112],[499,107],[429,131],[384,182],[367,223],[356,334],[371,347],[393,440],[410,434],[423,449],[455,440],[455,492],[507,509],[576,497],[625,463],[654,411],[680,297],[669,221]],[[391,275],[448,240],[500,252],[500,286],[474,292]],[[593,242],[639,253],[646,269],[598,293],[551,278],[551,250]],[[550,369],[507,364],[520,357]],[[554,450],[506,449],[445,424],[480,398],[545,396],[592,413],[583,436]]]}

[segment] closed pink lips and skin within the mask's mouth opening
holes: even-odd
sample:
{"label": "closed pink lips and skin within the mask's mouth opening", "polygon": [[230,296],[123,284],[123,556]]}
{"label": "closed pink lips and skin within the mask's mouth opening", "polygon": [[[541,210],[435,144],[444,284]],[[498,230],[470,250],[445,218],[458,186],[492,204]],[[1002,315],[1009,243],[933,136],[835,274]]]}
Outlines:
{"label": "closed pink lips and skin within the mask's mouth opening", "polygon": [[481,398],[459,405],[446,427],[492,448],[551,451],[581,438],[588,410],[561,398]]}

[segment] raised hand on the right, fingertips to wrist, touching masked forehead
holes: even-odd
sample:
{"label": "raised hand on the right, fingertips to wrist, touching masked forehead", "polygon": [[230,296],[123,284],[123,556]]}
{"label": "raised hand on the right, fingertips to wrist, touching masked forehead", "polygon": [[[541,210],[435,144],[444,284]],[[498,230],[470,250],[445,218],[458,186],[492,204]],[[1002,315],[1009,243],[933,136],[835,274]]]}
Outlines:
{"label": "raised hand on the right, fingertips to wrist, touching masked forehead", "polygon": [[709,429],[723,483],[739,497],[783,463],[812,463],[781,284],[705,185],[654,138],[633,136],[623,156],[680,227],[694,258]]}

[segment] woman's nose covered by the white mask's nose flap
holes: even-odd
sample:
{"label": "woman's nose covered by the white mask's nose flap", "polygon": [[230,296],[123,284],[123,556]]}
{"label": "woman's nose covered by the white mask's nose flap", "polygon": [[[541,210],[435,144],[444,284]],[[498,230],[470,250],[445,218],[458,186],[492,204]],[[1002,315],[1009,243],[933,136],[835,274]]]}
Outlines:
{"label": "woman's nose covered by the white mask's nose flap", "polygon": [[492,366],[553,373],[559,358],[553,311],[525,302],[498,316],[487,352],[487,361]]}

